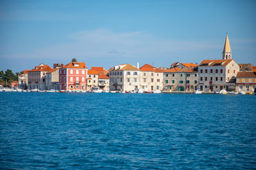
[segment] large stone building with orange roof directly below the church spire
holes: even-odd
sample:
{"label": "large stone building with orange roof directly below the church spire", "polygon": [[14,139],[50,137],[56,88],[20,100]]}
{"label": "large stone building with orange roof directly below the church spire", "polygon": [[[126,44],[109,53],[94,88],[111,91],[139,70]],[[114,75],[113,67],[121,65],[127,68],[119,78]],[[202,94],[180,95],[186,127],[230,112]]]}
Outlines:
{"label": "large stone building with orange roof directly below the church spire", "polygon": [[234,60],[203,60],[198,66],[200,90],[235,90],[238,71],[239,65]]}

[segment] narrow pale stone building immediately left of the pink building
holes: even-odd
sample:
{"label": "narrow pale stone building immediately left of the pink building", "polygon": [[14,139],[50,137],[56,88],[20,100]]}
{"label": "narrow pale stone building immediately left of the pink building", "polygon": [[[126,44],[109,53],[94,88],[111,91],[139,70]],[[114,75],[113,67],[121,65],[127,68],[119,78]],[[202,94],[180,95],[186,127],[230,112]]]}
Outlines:
{"label": "narrow pale stone building immediately left of the pink building", "polygon": [[59,90],[59,69],[55,68],[45,75],[45,90]]}

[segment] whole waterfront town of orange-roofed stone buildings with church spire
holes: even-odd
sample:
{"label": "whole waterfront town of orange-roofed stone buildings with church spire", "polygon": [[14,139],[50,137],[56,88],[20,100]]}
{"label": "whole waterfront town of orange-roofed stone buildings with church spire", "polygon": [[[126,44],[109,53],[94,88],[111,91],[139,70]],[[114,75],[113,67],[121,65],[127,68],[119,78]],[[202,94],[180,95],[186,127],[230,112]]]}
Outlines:
{"label": "whole waterfront town of orange-roofed stone buildings with church spire", "polygon": [[243,92],[256,87],[256,66],[237,63],[228,40],[222,57],[197,63],[170,63],[170,67],[120,64],[110,69],[91,67],[73,59],[68,64],[43,63],[23,70],[12,88],[61,92]]}

